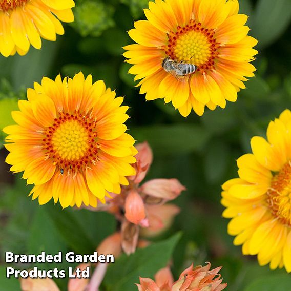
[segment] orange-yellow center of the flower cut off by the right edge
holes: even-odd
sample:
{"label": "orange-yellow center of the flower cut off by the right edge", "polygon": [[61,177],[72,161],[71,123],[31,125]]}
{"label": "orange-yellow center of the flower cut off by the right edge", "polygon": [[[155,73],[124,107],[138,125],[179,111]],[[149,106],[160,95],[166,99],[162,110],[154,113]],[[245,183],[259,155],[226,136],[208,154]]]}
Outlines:
{"label": "orange-yellow center of the flower cut off by the right edge", "polygon": [[283,224],[291,226],[291,162],[273,177],[267,192],[269,209]]}

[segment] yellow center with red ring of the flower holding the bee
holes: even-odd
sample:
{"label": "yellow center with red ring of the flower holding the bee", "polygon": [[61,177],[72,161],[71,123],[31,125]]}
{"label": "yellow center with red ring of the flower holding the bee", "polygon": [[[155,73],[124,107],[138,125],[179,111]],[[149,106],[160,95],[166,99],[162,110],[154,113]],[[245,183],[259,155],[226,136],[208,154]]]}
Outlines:
{"label": "yellow center with red ring of the flower holding the bee", "polygon": [[185,27],[178,26],[176,32],[169,33],[169,44],[163,50],[171,59],[194,64],[197,71],[214,70],[219,44],[213,34],[213,30],[190,20]]}

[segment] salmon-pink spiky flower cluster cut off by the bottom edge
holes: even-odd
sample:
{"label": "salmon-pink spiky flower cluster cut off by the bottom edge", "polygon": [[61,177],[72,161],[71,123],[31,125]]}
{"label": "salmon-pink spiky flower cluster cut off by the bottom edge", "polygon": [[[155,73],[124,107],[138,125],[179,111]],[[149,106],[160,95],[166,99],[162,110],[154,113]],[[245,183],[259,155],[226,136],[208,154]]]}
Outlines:
{"label": "salmon-pink spiky flower cluster cut off by the bottom edge", "polygon": [[222,283],[218,273],[221,267],[210,269],[211,264],[193,267],[193,264],[182,272],[179,279],[173,282],[169,267],[161,269],[155,275],[155,281],[150,278],[140,278],[136,284],[138,291],[221,291],[227,283]]}

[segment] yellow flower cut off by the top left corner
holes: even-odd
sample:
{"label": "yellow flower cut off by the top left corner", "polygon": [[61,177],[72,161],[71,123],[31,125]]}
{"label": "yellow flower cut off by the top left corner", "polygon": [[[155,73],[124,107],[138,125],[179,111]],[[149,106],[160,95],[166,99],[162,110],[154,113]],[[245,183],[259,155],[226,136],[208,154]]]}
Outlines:
{"label": "yellow flower cut off by the top left corner", "polygon": [[[59,22],[72,22],[73,0],[0,0],[0,53],[25,55],[30,44],[41,48],[41,39],[64,34]],[[57,18],[58,19],[57,19]]]}

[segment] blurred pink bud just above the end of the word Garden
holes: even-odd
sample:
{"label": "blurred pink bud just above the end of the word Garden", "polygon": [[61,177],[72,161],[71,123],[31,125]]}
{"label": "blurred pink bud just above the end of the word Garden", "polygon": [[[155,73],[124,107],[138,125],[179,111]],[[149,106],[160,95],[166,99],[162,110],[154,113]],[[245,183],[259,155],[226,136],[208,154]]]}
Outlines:
{"label": "blurred pink bud just above the end of the word Garden", "polygon": [[114,233],[113,235],[102,240],[97,247],[97,253],[99,255],[113,255],[115,258],[121,254],[121,234]]}

